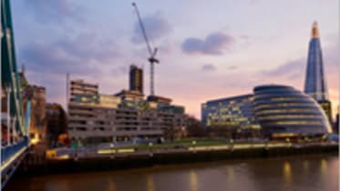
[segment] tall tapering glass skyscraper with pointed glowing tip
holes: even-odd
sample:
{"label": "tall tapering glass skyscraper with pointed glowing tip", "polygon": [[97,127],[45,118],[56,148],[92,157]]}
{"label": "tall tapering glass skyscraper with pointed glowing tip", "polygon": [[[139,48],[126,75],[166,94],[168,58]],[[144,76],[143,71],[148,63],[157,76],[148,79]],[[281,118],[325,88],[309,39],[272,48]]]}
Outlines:
{"label": "tall tapering glass skyscraper with pointed glowing tip", "polygon": [[332,123],[332,106],[328,99],[320,34],[316,22],[313,24],[311,40],[309,42],[304,93],[314,97],[325,110],[329,122]]}

